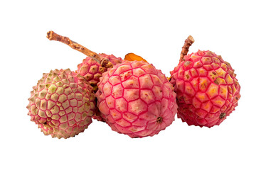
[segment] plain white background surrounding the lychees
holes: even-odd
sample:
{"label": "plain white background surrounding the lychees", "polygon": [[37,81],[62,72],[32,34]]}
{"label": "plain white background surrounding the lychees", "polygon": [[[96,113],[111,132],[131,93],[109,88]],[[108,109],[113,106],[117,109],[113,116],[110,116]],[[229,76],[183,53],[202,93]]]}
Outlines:
{"label": "plain white background surrounding the lychees", "polygon": [[[1,1],[0,169],[256,169],[255,1]],[[190,52],[230,62],[239,106],[220,125],[180,119],[154,137],[132,139],[93,120],[67,140],[43,135],[27,115],[32,86],[50,69],[85,58],[48,30],[95,52],[141,55],[166,76],[188,35]]]}

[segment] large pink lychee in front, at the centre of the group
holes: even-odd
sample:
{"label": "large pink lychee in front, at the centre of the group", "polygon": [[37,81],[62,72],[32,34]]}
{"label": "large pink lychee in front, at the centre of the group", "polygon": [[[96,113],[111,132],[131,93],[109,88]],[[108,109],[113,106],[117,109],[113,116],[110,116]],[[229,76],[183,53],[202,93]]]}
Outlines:
{"label": "large pink lychee in front, at the centre of the group", "polygon": [[97,106],[112,130],[129,137],[153,136],[174,121],[174,88],[152,64],[124,61],[102,75]]}

